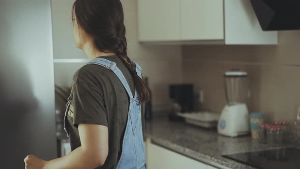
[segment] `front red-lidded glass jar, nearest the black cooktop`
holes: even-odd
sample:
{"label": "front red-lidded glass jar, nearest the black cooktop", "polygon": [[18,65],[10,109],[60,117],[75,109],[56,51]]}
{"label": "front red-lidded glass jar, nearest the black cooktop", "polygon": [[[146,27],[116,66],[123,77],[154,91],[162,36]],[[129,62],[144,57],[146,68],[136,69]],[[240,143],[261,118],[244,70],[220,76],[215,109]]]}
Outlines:
{"label": "front red-lidded glass jar, nearest the black cooktop", "polygon": [[273,126],[267,130],[267,143],[269,147],[282,146],[282,129],[281,127]]}

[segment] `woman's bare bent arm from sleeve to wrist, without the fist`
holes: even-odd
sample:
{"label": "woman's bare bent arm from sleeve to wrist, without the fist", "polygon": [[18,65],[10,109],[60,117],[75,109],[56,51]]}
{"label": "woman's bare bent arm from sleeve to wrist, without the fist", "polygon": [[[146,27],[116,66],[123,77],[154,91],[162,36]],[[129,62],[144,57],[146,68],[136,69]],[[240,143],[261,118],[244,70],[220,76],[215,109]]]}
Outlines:
{"label": "woman's bare bent arm from sleeve to wrist, without the fist", "polygon": [[64,157],[48,161],[44,169],[93,169],[105,163],[108,155],[108,128],[79,124],[78,130],[81,147]]}

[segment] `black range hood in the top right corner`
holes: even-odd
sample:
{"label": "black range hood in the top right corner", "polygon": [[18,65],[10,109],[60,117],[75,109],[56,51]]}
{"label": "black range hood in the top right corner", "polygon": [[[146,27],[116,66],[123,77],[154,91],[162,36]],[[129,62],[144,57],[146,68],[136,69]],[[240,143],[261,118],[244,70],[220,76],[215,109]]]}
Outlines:
{"label": "black range hood in the top right corner", "polygon": [[250,0],[263,31],[300,30],[299,0]]}

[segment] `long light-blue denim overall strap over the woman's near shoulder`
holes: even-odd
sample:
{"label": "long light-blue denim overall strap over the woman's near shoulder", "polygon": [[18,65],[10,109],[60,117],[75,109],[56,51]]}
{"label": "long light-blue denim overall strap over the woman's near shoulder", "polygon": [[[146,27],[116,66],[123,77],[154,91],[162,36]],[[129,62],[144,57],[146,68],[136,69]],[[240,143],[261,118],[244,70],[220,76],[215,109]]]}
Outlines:
{"label": "long light-blue denim overall strap over the woman's near shoulder", "polygon": [[88,64],[103,66],[103,67],[113,71],[114,74],[119,78],[119,80],[121,80],[124,88],[126,89],[128,95],[130,97],[130,100],[132,100],[133,95],[132,95],[132,92],[128,85],[128,82],[127,82],[126,78],[124,77],[123,73],[121,72],[121,70],[118,67],[116,67],[116,64],[114,62],[111,62],[111,61],[103,59],[103,58],[95,58],[95,59],[89,61],[88,63],[86,63],[85,65],[88,65]]}

